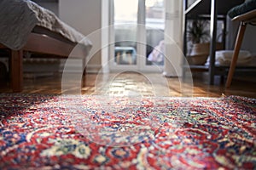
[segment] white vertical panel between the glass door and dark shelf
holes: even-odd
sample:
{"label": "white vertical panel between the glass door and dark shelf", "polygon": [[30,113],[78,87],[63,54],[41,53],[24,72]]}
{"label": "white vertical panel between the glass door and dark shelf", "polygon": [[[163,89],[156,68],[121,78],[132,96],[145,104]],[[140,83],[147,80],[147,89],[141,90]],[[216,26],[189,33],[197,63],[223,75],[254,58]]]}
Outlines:
{"label": "white vertical panel between the glass door and dark shelf", "polygon": [[183,1],[166,1],[166,60],[164,75],[180,77],[183,59]]}

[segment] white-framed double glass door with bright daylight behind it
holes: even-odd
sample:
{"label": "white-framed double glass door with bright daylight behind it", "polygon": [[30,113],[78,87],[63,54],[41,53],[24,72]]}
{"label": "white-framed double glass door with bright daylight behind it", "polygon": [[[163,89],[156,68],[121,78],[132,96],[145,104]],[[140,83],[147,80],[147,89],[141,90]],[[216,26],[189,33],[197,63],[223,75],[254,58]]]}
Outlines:
{"label": "white-framed double glass door with bright daylight behind it", "polygon": [[110,70],[162,71],[165,0],[112,0]]}

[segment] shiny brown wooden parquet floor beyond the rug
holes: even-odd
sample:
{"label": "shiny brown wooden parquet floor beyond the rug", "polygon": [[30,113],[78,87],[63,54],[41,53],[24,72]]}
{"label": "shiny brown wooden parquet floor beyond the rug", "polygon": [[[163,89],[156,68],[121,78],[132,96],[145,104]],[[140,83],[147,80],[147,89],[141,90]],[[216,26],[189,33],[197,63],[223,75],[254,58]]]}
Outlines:
{"label": "shiny brown wooden parquet floor beyond the rug", "polygon": [[[193,82],[183,82],[177,77],[163,77],[158,73],[138,74],[87,74],[85,80],[78,83],[71,74],[63,81],[61,74],[49,77],[24,79],[23,94],[104,94],[114,96],[194,96],[220,97],[222,95],[241,95],[256,98],[256,81],[253,77],[246,80],[234,79],[231,88],[225,89],[224,82],[217,79],[209,85],[207,76],[200,73],[193,77]],[[253,81],[252,81],[253,80]],[[65,87],[61,88],[61,82]],[[82,84],[82,86],[81,86]],[[1,81],[0,93],[12,93],[8,81]],[[62,86],[63,87],[63,86]]]}

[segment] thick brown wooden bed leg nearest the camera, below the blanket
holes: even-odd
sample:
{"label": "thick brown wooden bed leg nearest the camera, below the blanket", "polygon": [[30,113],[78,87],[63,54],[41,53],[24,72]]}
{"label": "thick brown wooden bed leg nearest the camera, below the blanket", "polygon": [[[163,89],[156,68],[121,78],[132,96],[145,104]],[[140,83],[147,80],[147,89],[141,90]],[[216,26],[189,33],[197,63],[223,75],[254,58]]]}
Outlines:
{"label": "thick brown wooden bed leg nearest the camera, below the blanket", "polygon": [[11,84],[13,92],[21,92],[23,84],[23,51],[11,52]]}

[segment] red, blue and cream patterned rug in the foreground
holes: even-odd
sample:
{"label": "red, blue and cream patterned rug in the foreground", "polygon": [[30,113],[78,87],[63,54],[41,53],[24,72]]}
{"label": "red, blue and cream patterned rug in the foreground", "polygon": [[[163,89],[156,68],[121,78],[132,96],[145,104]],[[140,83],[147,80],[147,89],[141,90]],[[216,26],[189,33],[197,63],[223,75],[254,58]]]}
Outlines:
{"label": "red, blue and cream patterned rug in the foreground", "polygon": [[255,169],[256,99],[0,94],[0,169]]}

